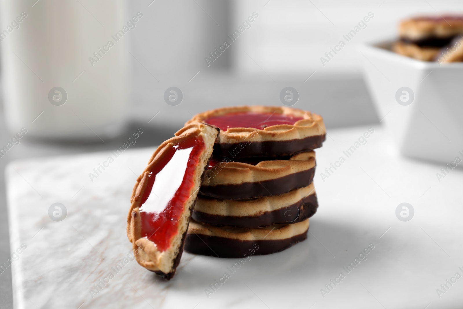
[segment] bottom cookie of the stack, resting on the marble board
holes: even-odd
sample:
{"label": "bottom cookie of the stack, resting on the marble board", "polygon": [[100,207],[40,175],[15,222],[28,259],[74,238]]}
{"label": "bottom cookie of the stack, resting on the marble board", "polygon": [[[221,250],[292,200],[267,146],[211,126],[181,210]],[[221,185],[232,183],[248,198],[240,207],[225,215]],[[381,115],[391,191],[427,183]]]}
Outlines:
{"label": "bottom cookie of the stack, resting on the marble board", "polygon": [[191,221],[185,251],[218,258],[280,252],[307,239],[309,219],[260,228],[214,227]]}

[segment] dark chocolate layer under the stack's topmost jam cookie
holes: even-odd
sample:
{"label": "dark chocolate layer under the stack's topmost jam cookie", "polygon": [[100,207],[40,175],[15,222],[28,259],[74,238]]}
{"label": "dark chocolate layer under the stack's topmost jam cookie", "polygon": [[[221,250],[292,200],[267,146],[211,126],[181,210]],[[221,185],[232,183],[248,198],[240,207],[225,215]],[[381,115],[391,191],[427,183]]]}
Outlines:
{"label": "dark chocolate layer under the stack's topmost jam cookie", "polygon": [[302,151],[321,147],[325,134],[304,139],[266,140],[262,142],[221,143],[214,145],[214,156],[231,158],[290,156]]}

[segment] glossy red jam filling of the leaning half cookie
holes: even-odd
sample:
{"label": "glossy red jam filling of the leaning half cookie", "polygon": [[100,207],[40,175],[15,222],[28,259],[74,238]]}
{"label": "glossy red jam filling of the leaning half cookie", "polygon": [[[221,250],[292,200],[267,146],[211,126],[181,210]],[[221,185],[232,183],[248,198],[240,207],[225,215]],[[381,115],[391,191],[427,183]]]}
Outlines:
{"label": "glossy red jam filling of the leaning half cookie", "polygon": [[194,170],[204,148],[200,137],[180,142],[150,171],[140,207],[141,236],[151,240],[161,252],[169,248],[178,233],[178,222],[194,186]]}

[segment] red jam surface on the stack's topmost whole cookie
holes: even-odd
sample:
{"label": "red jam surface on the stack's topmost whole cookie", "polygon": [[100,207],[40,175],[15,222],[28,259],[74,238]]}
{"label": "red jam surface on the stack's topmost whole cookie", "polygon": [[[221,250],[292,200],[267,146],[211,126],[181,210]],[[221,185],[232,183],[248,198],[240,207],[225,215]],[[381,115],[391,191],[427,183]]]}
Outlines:
{"label": "red jam surface on the stack's topmost whole cookie", "polygon": [[302,119],[303,117],[276,113],[233,113],[211,117],[204,120],[204,122],[217,126],[222,131],[226,131],[228,128],[256,128],[262,130],[267,126],[294,125],[296,121]]}

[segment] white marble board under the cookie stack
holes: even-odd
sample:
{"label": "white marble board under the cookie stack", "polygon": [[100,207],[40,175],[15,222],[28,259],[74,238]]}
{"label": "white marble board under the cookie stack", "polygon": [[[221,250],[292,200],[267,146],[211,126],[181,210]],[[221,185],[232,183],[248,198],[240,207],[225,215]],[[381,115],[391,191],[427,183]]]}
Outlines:
{"label": "white marble board under the cookie stack", "polygon": [[[136,261],[124,264],[131,190],[153,148],[126,150],[93,182],[88,174],[111,152],[13,162],[6,170],[11,250],[27,246],[11,265],[15,308],[461,308],[463,171],[439,182],[441,165],[401,158],[374,130],[348,158],[343,151],[368,127],[328,131],[316,151],[319,210],[308,239],[252,257],[208,296],[238,259],[184,253],[170,281]],[[345,162],[322,180],[341,156]],[[67,208],[63,221],[50,220],[55,202]],[[402,202],[414,208],[411,221],[395,215]],[[367,259],[347,273],[343,267],[369,244]],[[345,278],[322,293],[341,272]]]}

